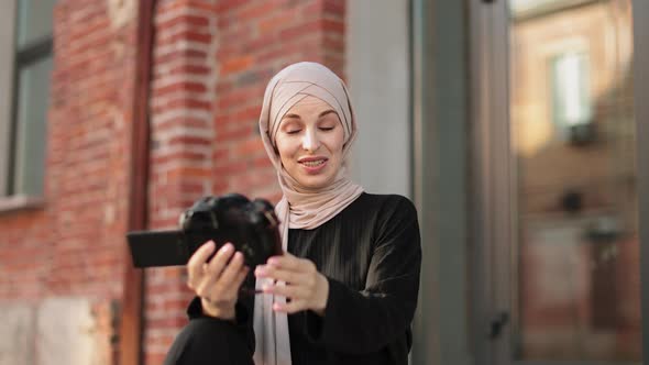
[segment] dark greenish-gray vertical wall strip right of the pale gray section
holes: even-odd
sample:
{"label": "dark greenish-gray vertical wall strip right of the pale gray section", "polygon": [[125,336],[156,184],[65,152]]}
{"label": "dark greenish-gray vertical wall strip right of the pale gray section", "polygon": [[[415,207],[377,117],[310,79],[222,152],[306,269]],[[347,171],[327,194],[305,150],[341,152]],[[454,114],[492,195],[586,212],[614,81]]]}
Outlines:
{"label": "dark greenish-gray vertical wall strip right of the pale gray section", "polygon": [[468,29],[464,1],[413,0],[414,190],[424,261],[415,365],[474,363]]}

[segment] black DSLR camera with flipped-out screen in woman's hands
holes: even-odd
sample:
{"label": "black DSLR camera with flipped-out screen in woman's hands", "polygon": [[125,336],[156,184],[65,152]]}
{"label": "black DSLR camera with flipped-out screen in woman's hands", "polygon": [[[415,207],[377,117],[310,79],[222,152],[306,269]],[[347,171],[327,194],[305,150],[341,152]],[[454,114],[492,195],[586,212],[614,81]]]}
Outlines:
{"label": "black DSLR camera with flipped-out screen in woman's hands", "polygon": [[209,240],[217,250],[232,243],[251,268],[282,254],[279,221],[273,204],[264,199],[250,201],[239,193],[205,197],[180,215],[179,225],[176,231],[129,232],[134,266],[185,265]]}

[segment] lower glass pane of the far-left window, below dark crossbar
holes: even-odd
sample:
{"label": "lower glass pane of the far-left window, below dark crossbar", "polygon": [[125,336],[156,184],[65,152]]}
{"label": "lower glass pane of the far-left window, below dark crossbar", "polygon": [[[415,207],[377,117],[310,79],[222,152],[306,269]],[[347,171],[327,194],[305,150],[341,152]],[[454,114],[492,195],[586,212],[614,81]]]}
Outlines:
{"label": "lower glass pane of the far-left window, below dark crossbar", "polygon": [[51,71],[52,57],[19,70],[14,193],[43,193]]}

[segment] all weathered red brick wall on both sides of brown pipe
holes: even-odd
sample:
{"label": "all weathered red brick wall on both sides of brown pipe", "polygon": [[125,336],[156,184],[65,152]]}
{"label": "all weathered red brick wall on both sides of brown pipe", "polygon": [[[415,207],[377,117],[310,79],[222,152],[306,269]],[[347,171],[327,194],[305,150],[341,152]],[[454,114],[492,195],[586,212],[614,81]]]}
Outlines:
{"label": "all weathered red brick wall on both sides of brown pipe", "polygon": [[[61,0],[45,204],[0,214],[0,301],[88,300],[101,363],[117,363],[123,290],[138,1]],[[238,191],[277,201],[258,139],[265,84],[285,65],[342,73],[342,0],[158,0],[152,65],[148,224],[174,228],[196,198]],[[146,364],[161,364],[190,298],[180,268],[150,269]],[[37,343],[37,341],[34,341]]]}

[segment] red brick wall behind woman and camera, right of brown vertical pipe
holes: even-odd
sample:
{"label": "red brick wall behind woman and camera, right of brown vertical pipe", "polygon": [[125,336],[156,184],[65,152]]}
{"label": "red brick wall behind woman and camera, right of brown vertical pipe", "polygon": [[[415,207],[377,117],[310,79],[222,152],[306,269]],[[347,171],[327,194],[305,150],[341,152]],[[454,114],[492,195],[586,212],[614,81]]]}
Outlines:
{"label": "red brick wall behind woman and camera, right of brown vertical pipe", "polygon": [[[202,195],[276,201],[257,132],[265,85],[298,60],[342,71],[344,1],[160,1],[155,23],[151,226],[175,226]],[[186,323],[184,275],[146,273],[146,364],[162,363]]]}

